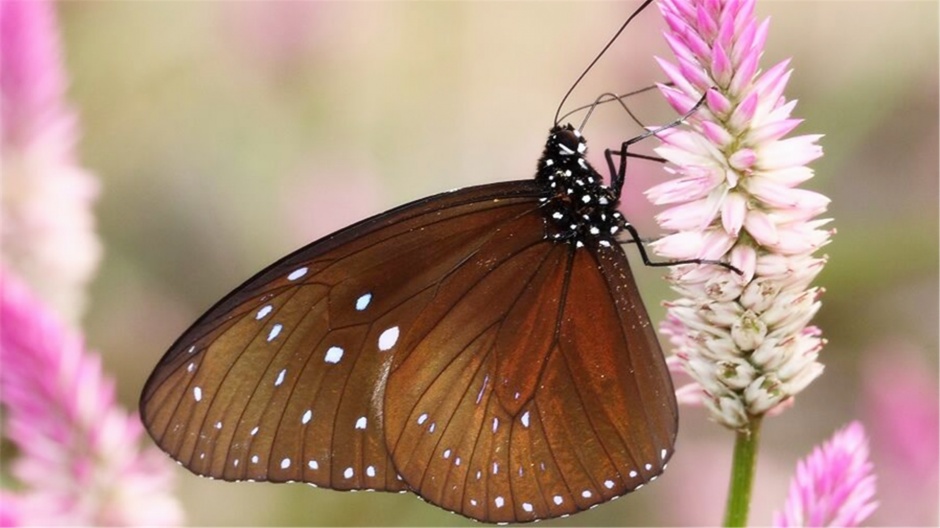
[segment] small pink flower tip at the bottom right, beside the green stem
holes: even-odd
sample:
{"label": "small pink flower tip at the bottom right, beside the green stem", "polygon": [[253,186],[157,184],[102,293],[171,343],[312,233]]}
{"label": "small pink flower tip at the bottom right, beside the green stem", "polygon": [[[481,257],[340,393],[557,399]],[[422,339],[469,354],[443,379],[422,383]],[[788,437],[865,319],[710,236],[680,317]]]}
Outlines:
{"label": "small pink flower tip at the bottom right, beside the green stem", "polygon": [[852,422],[800,461],[774,526],[858,526],[878,507],[874,497],[868,438]]}

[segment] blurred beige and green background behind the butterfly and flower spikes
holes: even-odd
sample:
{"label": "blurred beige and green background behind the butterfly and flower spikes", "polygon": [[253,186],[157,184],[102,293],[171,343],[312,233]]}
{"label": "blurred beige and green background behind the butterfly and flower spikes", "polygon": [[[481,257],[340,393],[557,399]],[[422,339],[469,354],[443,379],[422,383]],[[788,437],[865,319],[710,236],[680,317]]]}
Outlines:
{"label": "blurred beige and green background behind the butterfly and flower spikes", "polygon": [[[136,406],[152,366],[211,303],[332,230],[438,191],[533,174],[555,108],[639,2],[64,2],[58,12],[81,159],[102,183],[105,257],[84,328]],[[817,324],[826,372],[766,420],[752,513],[780,508],[798,458],[860,419],[872,437],[875,525],[935,525],[938,496],[938,6],[758,2],[765,69],[793,57],[787,92],[824,133],[809,188],[838,229]],[[658,13],[630,27],[575,91],[664,79]],[[651,93],[647,123],[674,115]],[[586,130],[602,149],[637,134],[612,106]],[[650,149],[650,142],[641,149]],[[633,162],[628,218],[657,234]],[[638,259],[637,259],[638,263]],[[673,294],[636,266],[654,320]],[[732,434],[683,409],[655,485],[571,525],[720,521]],[[169,460],[167,463],[171,463]],[[410,495],[229,484],[178,469],[199,525],[472,525]]]}

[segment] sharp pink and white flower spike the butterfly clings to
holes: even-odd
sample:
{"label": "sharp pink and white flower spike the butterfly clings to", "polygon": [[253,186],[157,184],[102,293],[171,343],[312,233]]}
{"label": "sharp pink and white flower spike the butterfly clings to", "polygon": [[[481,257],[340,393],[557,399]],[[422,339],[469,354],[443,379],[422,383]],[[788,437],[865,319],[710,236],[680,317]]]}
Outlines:
{"label": "sharp pink and white flower spike the butterfly clings to", "polygon": [[[824,258],[828,198],[796,188],[812,177],[820,136],[784,139],[800,120],[783,98],[787,61],[766,72],[759,59],[768,22],[753,0],[659,0],[676,62],[659,60],[674,86],[660,86],[680,113],[706,95],[687,126],[656,135],[675,178],[647,191],[672,234],[654,250],[670,259],[729,262],[673,268],[682,298],[670,302],[664,334],[697,382],[703,403],[727,427],[746,427],[822,373],[824,341],[807,326],[819,309],[809,284]],[[688,389],[682,389],[688,391]]]}

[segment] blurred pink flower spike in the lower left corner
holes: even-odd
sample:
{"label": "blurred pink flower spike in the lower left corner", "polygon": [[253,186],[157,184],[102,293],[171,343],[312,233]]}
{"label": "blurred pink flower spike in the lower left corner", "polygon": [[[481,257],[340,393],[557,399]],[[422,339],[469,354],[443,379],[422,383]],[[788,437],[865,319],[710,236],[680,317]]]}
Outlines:
{"label": "blurred pink flower spike in the lower left corner", "polygon": [[166,458],[140,449],[143,428],[114,401],[101,359],[28,288],[0,270],[0,404],[19,450],[4,525],[177,524]]}

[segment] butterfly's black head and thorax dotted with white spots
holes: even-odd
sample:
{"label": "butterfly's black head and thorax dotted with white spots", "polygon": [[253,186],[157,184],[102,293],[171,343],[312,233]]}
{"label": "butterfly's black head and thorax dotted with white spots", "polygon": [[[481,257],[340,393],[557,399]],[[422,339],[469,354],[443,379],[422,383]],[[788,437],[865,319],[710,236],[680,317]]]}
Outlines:
{"label": "butterfly's black head and thorax dotted with white spots", "polygon": [[535,176],[548,193],[542,206],[546,236],[579,248],[610,247],[625,220],[586,153],[584,136],[570,124],[551,130]]}

